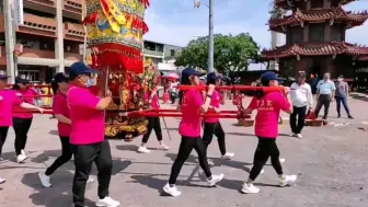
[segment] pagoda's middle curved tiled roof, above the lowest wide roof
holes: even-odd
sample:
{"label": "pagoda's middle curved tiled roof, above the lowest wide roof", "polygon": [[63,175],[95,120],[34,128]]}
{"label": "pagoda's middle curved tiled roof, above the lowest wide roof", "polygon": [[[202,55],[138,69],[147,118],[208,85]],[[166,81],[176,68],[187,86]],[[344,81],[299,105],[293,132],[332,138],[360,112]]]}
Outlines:
{"label": "pagoda's middle curved tiled roof, above the lowest wide roof", "polygon": [[345,22],[347,28],[359,26],[368,19],[368,11],[363,12],[345,12],[342,8],[335,8],[333,10],[326,10],[324,13],[301,12],[297,10],[291,15],[283,19],[271,19],[268,21],[269,28],[277,32],[284,32],[283,26],[309,23],[321,23],[325,21]]}

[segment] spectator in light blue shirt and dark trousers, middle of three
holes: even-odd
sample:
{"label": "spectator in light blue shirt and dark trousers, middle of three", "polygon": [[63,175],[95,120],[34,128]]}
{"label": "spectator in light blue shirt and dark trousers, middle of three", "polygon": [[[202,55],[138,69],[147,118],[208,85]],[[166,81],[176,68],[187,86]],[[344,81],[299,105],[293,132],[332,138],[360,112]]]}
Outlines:
{"label": "spectator in light blue shirt and dark trousers, middle of three", "polygon": [[323,119],[327,119],[330,104],[333,101],[332,97],[335,96],[336,87],[333,81],[330,80],[330,73],[323,74],[323,80],[320,80],[317,84],[317,106],[315,106],[315,117],[324,106]]}

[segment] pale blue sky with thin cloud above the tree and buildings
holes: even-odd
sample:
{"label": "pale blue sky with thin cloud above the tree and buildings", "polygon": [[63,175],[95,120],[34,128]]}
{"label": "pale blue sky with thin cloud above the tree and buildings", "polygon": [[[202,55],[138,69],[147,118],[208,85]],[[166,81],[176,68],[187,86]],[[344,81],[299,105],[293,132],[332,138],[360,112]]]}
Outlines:
{"label": "pale blue sky with thin cloud above the tree and buildings", "polygon": [[[214,0],[215,33],[249,32],[258,45],[271,47],[267,31],[271,0]],[[196,36],[208,34],[208,8],[194,9],[193,0],[150,0],[146,22],[150,28],[145,38],[185,46]],[[203,0],[207,3],[208,0]],[[353,2],[345,10],[368,10],[368,0]],[[347,32],[347,42],[368,45],[368,22]]]}

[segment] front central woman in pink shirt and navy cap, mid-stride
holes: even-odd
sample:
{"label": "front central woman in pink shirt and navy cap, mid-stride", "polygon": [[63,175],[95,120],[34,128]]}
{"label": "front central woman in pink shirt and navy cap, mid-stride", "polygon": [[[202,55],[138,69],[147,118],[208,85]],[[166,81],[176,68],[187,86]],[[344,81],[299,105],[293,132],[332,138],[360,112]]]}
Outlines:
{"label": "front central woman in pink shirt and navy cap, mid-stride", "polygon": [[[198,77],[202,74],[203,73],[195,69],[186,68],[182,71],[182,84],[199,85]],[[171,196],[181,195],[181,192],[175,186],[176,179],[193,149],[198,153],[200,168],[204,170],[210,186],[216,185],[216,183],[223,177],[223,174],[215,175],[211,173],[207,161],[206,147],[200,139],[200,114],[208,111],[214,91],[215,85],[209,84],[205,103],[199,91],[195,89],[180,92],[180,104],[183,117],[179,126],[179,134],[182,136],[182,141],[177,157],[171,169],[169,183],[163,187],[163,191]]]}

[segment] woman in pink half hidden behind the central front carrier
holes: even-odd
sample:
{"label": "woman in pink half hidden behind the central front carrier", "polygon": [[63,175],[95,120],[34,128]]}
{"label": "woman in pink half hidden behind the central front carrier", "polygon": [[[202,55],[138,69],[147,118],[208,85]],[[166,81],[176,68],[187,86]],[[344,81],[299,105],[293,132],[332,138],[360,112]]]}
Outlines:
{"label": "woman in pink half hidden behind the central front carrier", "polygon": [[[216,85],[220,84],[220,80],[216,76],[215,72],[207,74],[207,84],[216,84]],[[219,113],[221,102],[222,101],[221,101],[220,93],[215,90],[212,93],[212,96],[210,97],[209,108],[215,110],[216,113]],[[203,141],[205,143],[206,151],[207,151],[209,143],[212,141],[214,135],[216,135],[222,159],[230,160],[232,157],[234,157],[234,153],[227,152],[226,150],[225,133],[223,133],[220,119],[219,118],[204,118],[204,122],[205,122],[205,127],[204,127]]]}

